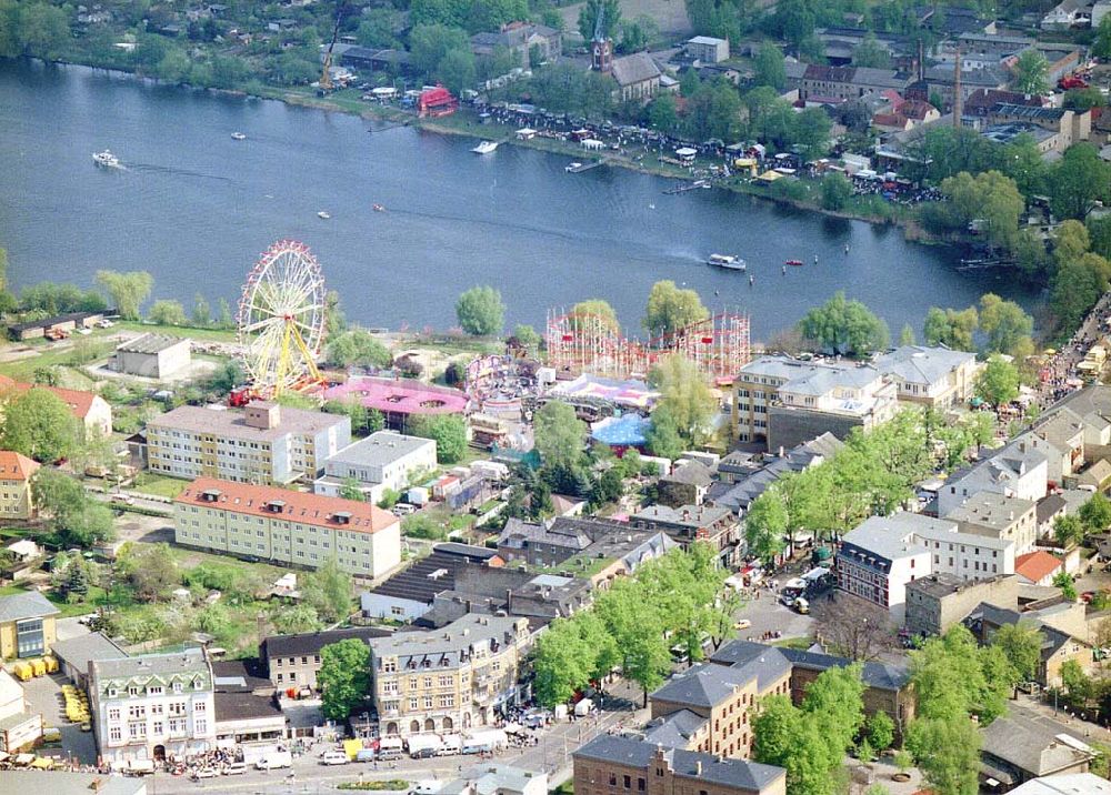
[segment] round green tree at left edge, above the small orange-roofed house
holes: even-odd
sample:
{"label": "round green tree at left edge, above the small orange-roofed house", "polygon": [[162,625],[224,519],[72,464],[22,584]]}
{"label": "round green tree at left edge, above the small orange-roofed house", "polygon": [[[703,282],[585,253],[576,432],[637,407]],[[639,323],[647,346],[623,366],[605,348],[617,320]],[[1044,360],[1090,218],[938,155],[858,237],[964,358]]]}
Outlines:
{"label": "round green tree at left edge, above the small orange-roofed house", "polygon": [[4,398],[0,429],[0,445],[4,450],[51,463],[77,449],[78,422],[53,392],[34,388]]}

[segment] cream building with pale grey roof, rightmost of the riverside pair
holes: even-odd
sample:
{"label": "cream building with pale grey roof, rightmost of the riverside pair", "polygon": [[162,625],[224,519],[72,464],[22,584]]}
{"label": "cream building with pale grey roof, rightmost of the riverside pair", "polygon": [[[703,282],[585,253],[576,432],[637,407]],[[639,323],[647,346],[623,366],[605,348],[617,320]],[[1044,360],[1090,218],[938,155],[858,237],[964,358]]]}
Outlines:
{"label": "cream building with pale grey roof, rightmost of the riverside pair", "polygon": [[873,365],[895,383],[900,402],[939,410],[968,403],[980,370],[974,353],[924,345],[901,345]]}

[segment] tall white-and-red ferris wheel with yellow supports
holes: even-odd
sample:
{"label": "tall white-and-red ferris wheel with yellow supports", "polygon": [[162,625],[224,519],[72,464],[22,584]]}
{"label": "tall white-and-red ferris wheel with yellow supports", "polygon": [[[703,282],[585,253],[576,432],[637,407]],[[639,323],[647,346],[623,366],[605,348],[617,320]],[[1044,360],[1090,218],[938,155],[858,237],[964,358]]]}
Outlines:
{"label": "tall white-and-red ferris wheel with yellow supports", "polygon": [[262,253],[239,300],[239,343],[251,393],[262,399],[321,381],[324,279],[309,246],[280,240]]}

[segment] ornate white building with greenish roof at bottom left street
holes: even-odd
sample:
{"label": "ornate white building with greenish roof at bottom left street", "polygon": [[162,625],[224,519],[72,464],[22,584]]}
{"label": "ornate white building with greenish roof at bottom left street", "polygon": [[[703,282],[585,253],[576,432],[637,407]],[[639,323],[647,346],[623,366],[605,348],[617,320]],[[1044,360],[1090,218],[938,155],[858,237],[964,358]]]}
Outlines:
{"label": "ornate white building with greenish roof at bottom left street", "polygon": [[107,764],[216,748],[212,665],[200,648],[89,663],[89,712]]}

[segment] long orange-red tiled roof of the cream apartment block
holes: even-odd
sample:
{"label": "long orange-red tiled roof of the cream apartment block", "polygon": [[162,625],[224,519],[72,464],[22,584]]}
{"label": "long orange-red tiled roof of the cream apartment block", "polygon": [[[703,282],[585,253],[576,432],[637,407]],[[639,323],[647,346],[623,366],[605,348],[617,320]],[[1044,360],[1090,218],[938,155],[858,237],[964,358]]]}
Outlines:
{"label": "long orange-red tiled roof of the cream apartment block", "polygon": [[[219,492],[219,496],[216,501],[208,501],[204,499],[206,492]],[[368,502],[342,500],[322,494],[306,494],[278,486],[233,483],[216,477],[198,477],[186,486],[173,502],[186,505],[213,506],[233,513],[269,519],[274,519],[278,513],[268,506],[280,502],[283,503],[281,516],[288,521],[357,533],[377,533],[399,521],[393,514]],[[350,521],[347,523],[337,521],[336,514],[338,513],[350,514]]]}

